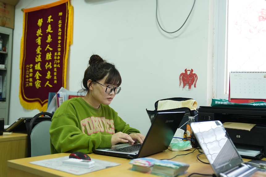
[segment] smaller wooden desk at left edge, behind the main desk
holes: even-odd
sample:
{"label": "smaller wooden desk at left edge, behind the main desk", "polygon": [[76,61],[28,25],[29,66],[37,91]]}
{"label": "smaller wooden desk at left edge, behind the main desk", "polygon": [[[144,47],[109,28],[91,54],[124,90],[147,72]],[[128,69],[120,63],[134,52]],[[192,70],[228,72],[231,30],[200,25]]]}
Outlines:
{"label": "smaller wooden desk at left edge, behind the main desk", "polygon": [[7,176],[7,161],[27,157],[27,132],[0,135],[0,176]]}

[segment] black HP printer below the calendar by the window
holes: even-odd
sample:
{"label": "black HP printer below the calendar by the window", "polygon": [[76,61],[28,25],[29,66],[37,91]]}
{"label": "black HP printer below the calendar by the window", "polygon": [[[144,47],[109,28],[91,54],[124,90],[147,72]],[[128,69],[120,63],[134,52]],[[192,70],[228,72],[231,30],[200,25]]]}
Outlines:
{"label": "black HP printer below the calendar by the window", "polygon": [[242,155],[247,159],[266,157],[266,108],[208,107],[198,108],[198,121],[219,120],[222,123],[250,124],[250,130],[226,128],[231,140],[238,149],[260,151],[259,155]]}

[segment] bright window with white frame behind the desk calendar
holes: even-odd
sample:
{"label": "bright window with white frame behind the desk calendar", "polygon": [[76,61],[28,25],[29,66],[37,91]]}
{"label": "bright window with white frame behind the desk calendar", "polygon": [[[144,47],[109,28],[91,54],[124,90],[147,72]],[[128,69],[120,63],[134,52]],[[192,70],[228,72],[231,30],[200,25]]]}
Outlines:
{"label": "bright window with white frame behind the desk calendar", "polygon": [[266,70],[266,1],[216,1],[214,16],[216,95],[228,99],[230,71]]}

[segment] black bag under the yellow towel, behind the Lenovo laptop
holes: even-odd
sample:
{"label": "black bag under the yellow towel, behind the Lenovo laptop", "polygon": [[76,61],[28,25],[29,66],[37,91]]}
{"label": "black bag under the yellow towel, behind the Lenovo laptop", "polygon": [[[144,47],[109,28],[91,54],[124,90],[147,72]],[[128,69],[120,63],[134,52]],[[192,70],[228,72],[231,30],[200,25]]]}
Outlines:
{"label": "black bag under the yellow towel, behind the Lenovo laptop", "polygon": [[[160,99],[160,100],[174,100],[174,101],[185,101],[185,100],[189,100],[190,98],[168,98],[168,99]],[[186,131],[186,122],[188,121],[188,117],[189,116],[193,116],[195,117],[195,122],[198,121],[198,110],[190,110],[188,107],[181,107],[181,108],[174,108],[174,109],[168,109],[168,110],[161,110],[161,111],[157,111],[157,107],[158,107],[158,102],[160,101],[156,101],[155,102],[155,110],[154,111],[149,111],[146,109],[148,116],[151,120],[151,123],[153,122],[154,116],[156,115],[156,113],[158,112],[173,112],[173,111],[183,111],[185,112],[185,115],[180,123],[180,125],[178,126],[178,128],[181,128],[183,130]],[[182,126],[184,125],[184,126]],[[181,127],[182,126],[182,127]]]}

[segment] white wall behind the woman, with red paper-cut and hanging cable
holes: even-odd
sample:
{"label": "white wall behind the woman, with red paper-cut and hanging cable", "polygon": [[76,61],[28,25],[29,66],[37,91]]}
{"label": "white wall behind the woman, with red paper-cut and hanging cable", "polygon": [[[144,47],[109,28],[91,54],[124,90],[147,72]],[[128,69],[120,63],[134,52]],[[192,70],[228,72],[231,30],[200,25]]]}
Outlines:
{"label": "white wall behind the woman, with red paper-cut and hanging cable", "polygon": [[[39,113],[39,110],[26,110],[19,103],[21,9],[55,1],[20,0],[15,6],[9,124],[19,117]],[[143,134],[150,127],[145,109],[154,110],[154,103],[159,99],[185,97],[195,99],[198,107],[209,104],[212,96],[212,0],[196,1],[186,24],[174,34],[159,28],[154,0],[74,0],[72,5],[74,29],[68,60],[68,90],[81,88],[89,57],[98,54],[114,63],[122,76],[122,91],[110,106]],[[193,0],[159,0],[161,26],[170,32],[179,29],[192,5]],[[179,75],[186,68],[197,74],[196,88],[179,86]]]}

